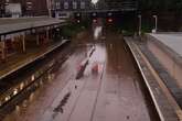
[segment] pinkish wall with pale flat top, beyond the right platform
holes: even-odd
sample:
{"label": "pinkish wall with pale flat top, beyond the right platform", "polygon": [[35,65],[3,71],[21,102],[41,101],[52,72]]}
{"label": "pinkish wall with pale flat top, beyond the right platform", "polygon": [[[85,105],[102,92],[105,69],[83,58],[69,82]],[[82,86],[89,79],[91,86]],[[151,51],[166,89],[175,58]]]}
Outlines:
{"label": "pinkish wall with pale flat top, beyond the right platform", "polygon": [[147,46],[182,88],[182,33],[147,34]]}

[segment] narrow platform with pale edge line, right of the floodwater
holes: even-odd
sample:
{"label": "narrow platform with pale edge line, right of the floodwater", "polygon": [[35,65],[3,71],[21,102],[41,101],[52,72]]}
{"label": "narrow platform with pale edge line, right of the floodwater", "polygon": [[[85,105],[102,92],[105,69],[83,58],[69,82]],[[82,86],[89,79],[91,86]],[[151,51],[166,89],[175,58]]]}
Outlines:
{"label": "narrow platform with pale edge line, right of the floodwater", "polygon": [[175,103],[168,87],[162,81],[160,75],[151,64],[148,56],[142,50],[142,44],[132,37],[125,37],[128,47],[133,55],[141,76],[149,89],[152,101],[158,111],[161,121],[179,121],[181,120],[181,108]]}

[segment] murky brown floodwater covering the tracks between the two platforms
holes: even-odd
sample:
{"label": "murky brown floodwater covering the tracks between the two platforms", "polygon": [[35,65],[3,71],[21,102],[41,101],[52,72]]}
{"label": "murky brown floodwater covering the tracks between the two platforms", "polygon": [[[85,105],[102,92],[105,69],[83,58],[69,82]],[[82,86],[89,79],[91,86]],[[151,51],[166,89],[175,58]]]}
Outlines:
{"label": "murky brown floodwater covering the tracks between the two platforms", "polygon": [[[106,35],[89,57],[92,48],[75,46],[4,121],[159,121],[122,37]],[[85,59],[84,75],[75,79]]]}

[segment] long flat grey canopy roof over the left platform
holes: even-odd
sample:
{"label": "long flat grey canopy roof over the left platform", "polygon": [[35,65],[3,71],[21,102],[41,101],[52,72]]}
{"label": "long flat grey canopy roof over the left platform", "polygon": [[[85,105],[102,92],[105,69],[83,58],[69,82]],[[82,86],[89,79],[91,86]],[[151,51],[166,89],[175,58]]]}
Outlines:
{"label": "long flat grey canopy roof over the left platform", "polygon": [[20,19],[0,19],[0,35],[12,34],[30,29],[49,26],[65,23],[64,20],[54,18],[20,18]]}

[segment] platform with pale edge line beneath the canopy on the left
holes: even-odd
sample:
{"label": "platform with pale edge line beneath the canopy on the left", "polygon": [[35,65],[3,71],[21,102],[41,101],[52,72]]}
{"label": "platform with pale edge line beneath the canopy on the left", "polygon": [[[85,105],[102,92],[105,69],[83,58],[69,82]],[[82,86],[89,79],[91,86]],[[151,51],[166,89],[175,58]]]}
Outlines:
{"label": "platform with pale edge line beneath the canopy on the left", "polygon": [[0,65],[0,79],[11,75],[12,73],[23,68],[24,66],[44,57],[46,54],[52,51],[61,47],[68,41],[64,40],[62,42],[50,43],[43,47],[34,47],[26,51],[24,54],[14,54],[7,58],[6,63]]}

